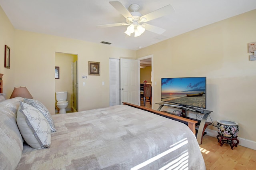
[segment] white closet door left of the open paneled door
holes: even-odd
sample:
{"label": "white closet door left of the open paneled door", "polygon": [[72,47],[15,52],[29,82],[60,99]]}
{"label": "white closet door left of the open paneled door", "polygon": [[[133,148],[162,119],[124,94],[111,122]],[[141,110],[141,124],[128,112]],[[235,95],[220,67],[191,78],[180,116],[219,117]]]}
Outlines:
{"label": "white closet door left of the open paneled door", "polygon": [[109,105],[120,105],[120,59],[109,59]]}

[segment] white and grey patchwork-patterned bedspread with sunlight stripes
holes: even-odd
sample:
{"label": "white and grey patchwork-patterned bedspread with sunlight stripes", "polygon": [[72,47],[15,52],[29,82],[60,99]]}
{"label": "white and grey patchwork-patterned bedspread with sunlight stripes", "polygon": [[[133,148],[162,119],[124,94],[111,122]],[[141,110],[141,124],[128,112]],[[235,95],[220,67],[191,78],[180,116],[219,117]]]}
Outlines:
{"label": "white and grey patchwork-patterned bedspread with sunlight stripes", "polygon": [[17,170],[204,170],[184,124],[127,105],[53,115],[50,148],[24,146]]}

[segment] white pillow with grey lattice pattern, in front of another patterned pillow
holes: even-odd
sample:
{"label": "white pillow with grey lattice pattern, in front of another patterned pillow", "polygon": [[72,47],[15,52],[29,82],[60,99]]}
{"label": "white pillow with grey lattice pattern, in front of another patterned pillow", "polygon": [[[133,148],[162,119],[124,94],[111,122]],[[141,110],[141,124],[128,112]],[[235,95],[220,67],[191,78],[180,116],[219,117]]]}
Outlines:
{"label": "white pillow with grey lattice pattern, in front of another patterned pillow", "polygon": [[32,148],[50,147],[50,125],[38,109],[20,102],[16,121],[22,137]]}

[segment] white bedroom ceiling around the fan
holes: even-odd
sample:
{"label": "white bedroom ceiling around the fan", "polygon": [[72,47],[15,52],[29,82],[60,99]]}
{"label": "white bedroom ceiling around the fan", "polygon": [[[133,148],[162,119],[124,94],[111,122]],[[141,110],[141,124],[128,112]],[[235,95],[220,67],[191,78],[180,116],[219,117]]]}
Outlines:
{"label": "white bedroom ceiling around the fan", "polygon": [[[179,34],[256,9],[256,0],[120,0],[126,8],[139,4],[142,15],[171,4],[175,13],[147,22],[166,29],[162,35],[145,31],[124,34],[127,26],[97,28],[125,22],[111,0],[0,0],[14,28],[137,50]],[[105,45],[105,44],[104,44]]]}

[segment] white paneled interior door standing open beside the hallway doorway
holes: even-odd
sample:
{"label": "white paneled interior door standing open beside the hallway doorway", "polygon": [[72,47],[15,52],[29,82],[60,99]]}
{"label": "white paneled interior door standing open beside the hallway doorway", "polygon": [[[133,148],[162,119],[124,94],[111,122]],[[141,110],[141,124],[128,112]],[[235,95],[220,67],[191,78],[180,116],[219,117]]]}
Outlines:
{"label": "white paneled interior door standing open beside the hallway doorway", "polygon": [[120,59],[120,102],[140,105],[140,61]]}

